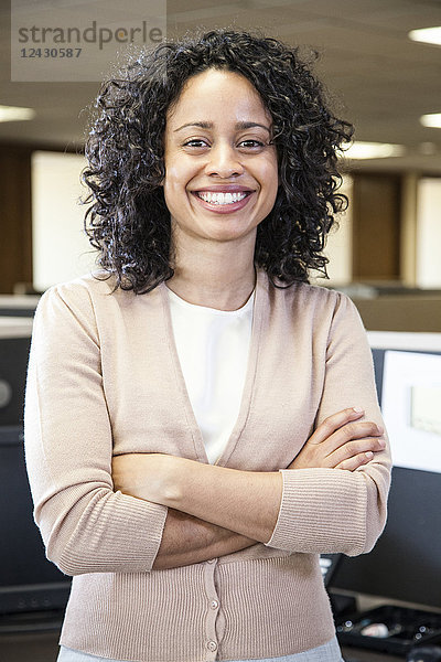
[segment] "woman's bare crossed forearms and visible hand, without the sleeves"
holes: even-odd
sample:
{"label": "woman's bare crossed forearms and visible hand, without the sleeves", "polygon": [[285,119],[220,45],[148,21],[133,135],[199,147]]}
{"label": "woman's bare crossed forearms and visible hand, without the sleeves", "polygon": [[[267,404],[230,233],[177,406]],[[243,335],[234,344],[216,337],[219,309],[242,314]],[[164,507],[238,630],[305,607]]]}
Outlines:
{"label": "woman's bare crossed forearms and visible hand, without the sleeves", "polygon": [[[383,429],[344,409],[326,418],[288,467],[356,471],[385,449]],[[160,453],[127,453],[112,462],[116,490],[169,508],[153,568],[207,560],[267,543],[282,496],[279,472],[238,471]]]}

